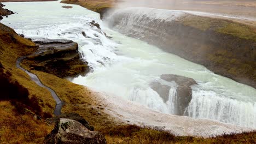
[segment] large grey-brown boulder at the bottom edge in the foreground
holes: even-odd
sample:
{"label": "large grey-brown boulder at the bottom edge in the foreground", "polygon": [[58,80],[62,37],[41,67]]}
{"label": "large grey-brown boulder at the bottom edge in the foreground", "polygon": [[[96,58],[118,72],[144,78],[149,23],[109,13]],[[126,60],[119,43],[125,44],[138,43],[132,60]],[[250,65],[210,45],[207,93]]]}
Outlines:
{"label": "large grey-brown boulder at the bottom edge in the foreground", "polygon": [[105,137],[97,131],[90,131],[81,123],[61,118],[46,136],[45,143],[107,143]]}

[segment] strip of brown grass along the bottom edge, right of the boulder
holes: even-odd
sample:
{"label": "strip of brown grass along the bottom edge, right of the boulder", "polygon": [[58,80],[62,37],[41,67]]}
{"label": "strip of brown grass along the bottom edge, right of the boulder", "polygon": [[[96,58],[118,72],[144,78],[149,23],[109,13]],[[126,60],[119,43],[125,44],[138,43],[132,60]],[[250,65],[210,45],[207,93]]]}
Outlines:
{"label": "strip of brown grass along the bottom edge, right of the boulder", "polygon": [[256,131],[243,134],[223,135],[203,139],[191,136],[176,136],[159,128],[120,125],[101,130],[108,143],[255,143]]}

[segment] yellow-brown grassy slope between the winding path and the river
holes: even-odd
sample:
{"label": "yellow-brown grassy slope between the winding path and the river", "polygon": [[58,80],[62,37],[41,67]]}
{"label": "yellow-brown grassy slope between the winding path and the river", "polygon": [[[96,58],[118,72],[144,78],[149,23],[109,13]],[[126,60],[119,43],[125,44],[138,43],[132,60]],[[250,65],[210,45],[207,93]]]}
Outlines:
{"label": "yellow-brown grassy slope between the winding path and the river", "polygon": [[33,71],[33,73],[38,75],[44,85],[54,89],[61,100],[64,101],[63,113],[79,113],[95,127],[95,130],[121,124],[104,112],[106,105],[97,98],[97,94],[91,92],[88,88],[40,71]]}

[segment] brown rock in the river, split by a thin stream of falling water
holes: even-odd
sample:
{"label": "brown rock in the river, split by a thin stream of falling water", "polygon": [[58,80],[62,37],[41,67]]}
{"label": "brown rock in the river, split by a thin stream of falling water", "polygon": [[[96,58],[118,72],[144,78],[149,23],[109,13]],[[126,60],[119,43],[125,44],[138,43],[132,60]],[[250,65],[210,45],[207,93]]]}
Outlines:
{"label": "brown rock in the river, split by a thin stream of falling water", "polygon": [[[185,115],[185,109],[188,107],[192,99],[191,85],[196,85],[195,80],[180,75],[161,75],[162,80],[167,82],[176,83],[176,100],[175,103],[175,115]],[[160,97],[165,101],[169,100],[169,91],[171,86],[163,85],[158,81],[150,83],[151,88],[157,92]]]}

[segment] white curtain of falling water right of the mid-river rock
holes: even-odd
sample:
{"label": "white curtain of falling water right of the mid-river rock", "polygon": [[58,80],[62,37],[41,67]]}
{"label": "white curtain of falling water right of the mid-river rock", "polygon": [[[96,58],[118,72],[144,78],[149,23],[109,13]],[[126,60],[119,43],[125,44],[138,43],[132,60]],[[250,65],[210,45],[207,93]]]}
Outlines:
{"label": "white curtain of falling water right of the mid-river rock", "polygon": [[226,97],[214,92],[193,91],[188,116],[256,128],[256,103]]}

